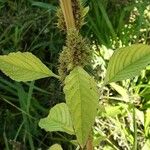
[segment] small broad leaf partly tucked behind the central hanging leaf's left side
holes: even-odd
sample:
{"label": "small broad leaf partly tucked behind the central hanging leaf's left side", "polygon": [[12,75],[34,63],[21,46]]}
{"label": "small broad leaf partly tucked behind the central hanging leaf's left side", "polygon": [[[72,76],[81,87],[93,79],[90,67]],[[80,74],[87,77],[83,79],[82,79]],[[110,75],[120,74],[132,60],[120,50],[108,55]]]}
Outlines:
{"label": "small broad leaf partly tucked behind the central hanging leaf's left side", "polygon": [[39,122],[39,126],[46,131],[62,131],[74,134],[68,107],[65,103],[55,105],[46,118]]}

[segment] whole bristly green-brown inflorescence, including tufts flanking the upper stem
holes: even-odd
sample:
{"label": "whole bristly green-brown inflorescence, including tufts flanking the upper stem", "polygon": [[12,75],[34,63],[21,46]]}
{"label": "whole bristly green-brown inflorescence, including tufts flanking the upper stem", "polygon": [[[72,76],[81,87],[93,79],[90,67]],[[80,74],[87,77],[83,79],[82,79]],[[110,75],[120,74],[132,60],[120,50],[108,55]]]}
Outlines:
{"label": "whole bristly green-brown inflorescence, including tufts flanking the upper stem", "polygon": [[83,38],[79,30],[84,23],[85,8],[79,0],[72,0],[72,10],[75,20],[75,29],[67,30],[64,16],[61,9],[57,10],[58,23],[57,26],[66,32],[66,45],[59,56],[58,72],[62,82],[65,77],[76,66],[84,67],[87,65],[92,56],[90,44],[87,39]]}

